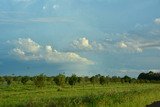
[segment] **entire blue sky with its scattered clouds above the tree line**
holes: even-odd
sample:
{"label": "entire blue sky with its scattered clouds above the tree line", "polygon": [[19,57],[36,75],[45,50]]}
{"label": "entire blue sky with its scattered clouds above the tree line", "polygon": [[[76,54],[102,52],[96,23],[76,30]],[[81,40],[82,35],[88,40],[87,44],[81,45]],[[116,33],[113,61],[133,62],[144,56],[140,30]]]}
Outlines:
{"label": "entire blue sky with its scattered clouds above the tree line", "polygon": [[160,71],[160,0],[0,0],[0,75]]}

